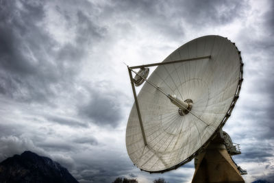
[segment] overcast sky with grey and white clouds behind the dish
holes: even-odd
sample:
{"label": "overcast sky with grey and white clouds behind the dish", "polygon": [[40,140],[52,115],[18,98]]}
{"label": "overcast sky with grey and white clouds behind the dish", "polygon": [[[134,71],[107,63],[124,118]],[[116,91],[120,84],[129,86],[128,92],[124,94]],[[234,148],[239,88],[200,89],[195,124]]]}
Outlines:
{"label": "overcast sky with grey and white clouds behind the dish", "polygon": [[246,182],[274,180],[273,1],[0,0],[0,161],[25,150],[79,182],[191,182],[193,162],[141,172],[127,156],[130,66],[161,62],[208,34],[236,42],[240,99],[224,130]]}

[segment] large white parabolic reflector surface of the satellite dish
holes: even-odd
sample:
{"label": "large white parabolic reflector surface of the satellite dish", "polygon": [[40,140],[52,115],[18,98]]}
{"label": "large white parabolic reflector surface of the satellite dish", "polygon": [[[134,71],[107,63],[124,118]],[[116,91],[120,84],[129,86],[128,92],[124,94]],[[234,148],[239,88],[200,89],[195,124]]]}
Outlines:
{"label": "large white parabolic reflector surface of the satellite dish", "polygon": [[[183,101],[192,99],[191,112],[178,107],[145,82],[138,94],[144,143],[134,103],[126,130],[127,153],[142,170],[164,172],[194,158],[208,145],[230,116],[242,82],[242,60],[234,43],[221,36],[203,36],[176,49],[163,62],[211,56],[158,66],[149,81]],[[206,125],[206,122],[208,125]]]}

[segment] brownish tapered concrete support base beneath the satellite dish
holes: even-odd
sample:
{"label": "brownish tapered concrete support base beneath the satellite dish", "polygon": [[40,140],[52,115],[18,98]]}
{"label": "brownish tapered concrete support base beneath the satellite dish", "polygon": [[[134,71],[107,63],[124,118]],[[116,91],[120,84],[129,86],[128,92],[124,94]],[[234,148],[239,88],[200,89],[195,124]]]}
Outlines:
{"label": "brownish tapered concrete support base beneath the satellite dish", "polygon": [[192,183],[245,182],[222,143],[211,143],[197,158]]}

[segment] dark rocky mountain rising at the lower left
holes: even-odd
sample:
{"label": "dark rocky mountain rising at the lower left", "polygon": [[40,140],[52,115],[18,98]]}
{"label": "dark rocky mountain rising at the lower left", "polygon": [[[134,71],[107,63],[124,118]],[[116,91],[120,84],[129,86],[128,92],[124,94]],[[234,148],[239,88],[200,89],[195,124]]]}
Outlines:
{"label": "dark rocky mountain rising at the lower left", "polygon": [[75,183],[77,180],[58,162],[25,151],[0,163],[0,182]]}

